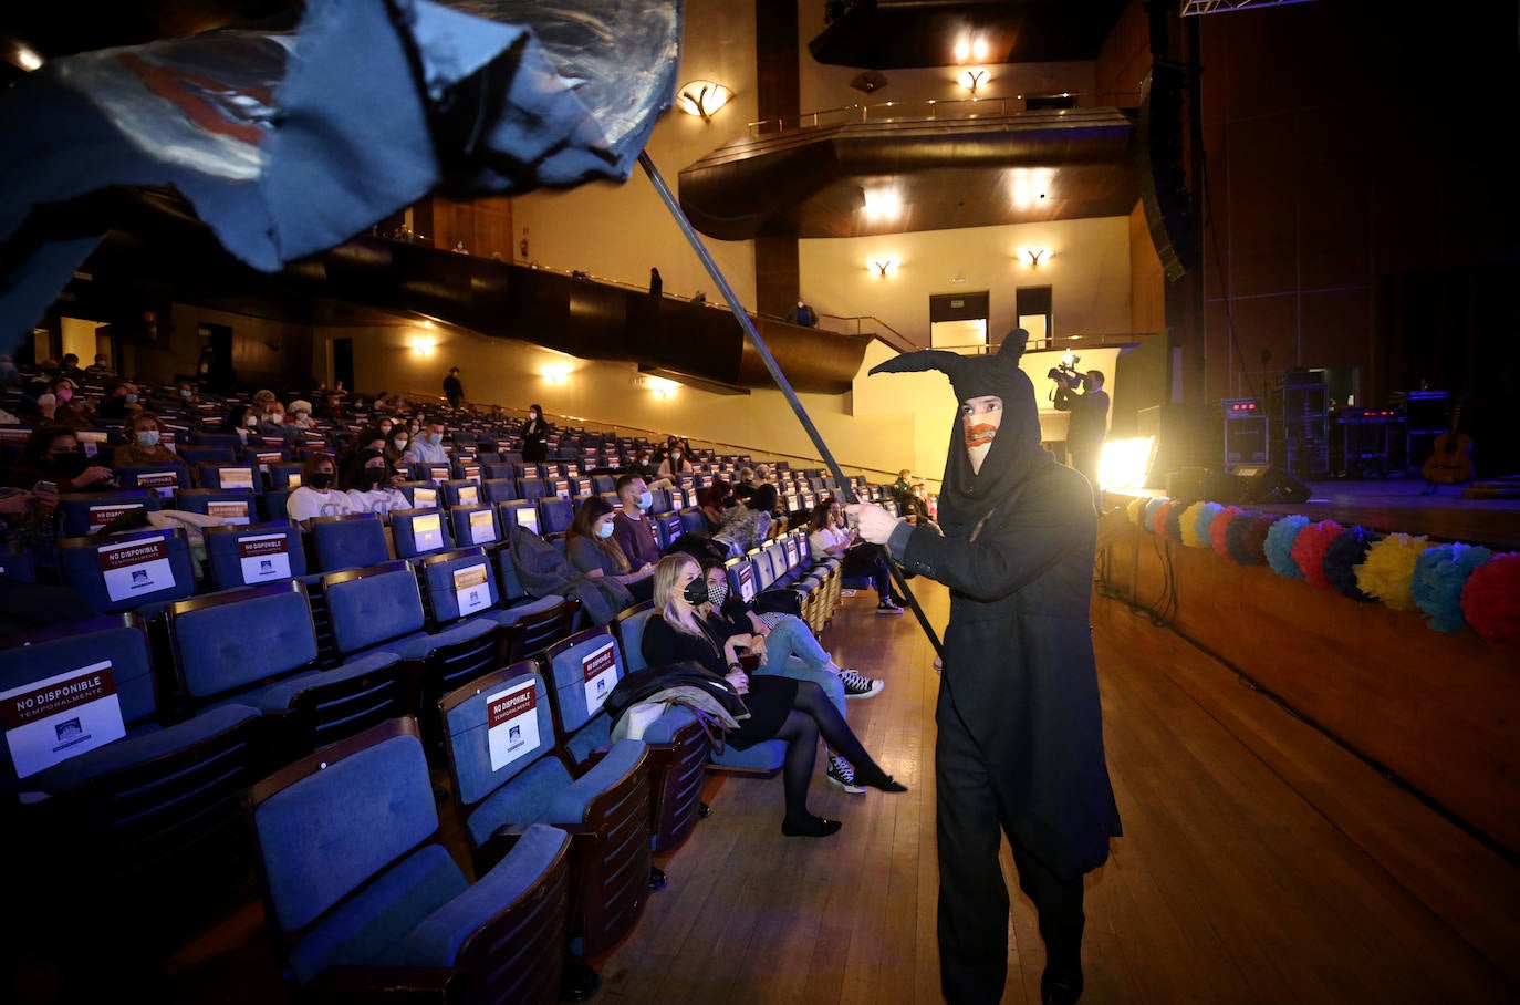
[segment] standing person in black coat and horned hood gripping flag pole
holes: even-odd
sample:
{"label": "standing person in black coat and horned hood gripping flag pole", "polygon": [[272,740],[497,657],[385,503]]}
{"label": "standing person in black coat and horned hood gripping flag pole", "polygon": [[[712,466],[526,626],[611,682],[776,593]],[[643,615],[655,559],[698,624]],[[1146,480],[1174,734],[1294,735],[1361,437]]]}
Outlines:
{"label": "standing person in black coat and horned hood gripping flag pole", "polygon": [[1104,759],[1088,623],[1097,514],[1087,482],[1040,444],[1028,333],[997,356],[907,353],[876,373],[941,369],[961,420],[939,528],[850,506],[860,535],[950,587],[935,712],[939,982],[947,1000],[997,1002],[1008,979],[1000,830],[1046,943],[1041,1002],[1082,993],[1082,874],[1120,835]]}

